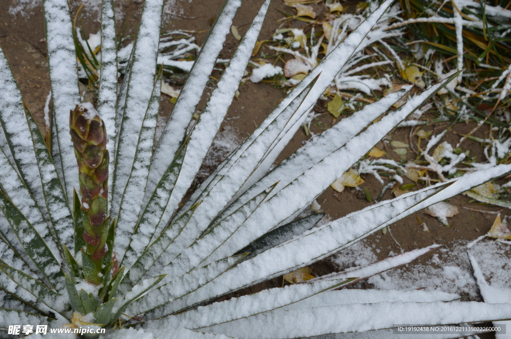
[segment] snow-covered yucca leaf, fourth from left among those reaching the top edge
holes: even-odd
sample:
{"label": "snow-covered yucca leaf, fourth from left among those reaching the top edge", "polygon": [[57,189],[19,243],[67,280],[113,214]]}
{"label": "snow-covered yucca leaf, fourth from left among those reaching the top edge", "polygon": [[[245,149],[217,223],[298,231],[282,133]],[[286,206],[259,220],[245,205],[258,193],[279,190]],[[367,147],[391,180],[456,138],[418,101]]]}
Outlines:
{"label": "snow-covered yucca leaf, fourth from left among those reaching the top edge", "polygon": [[216,22],[200,50],[156,146],[144,200],[148,200],[179,149],[183,139],[180,136],[184,137],[187,131],[218,54],[222,50],[225,36],[229,33],[234,15],[240,6],[241,0],[225,0],[222,13],[217,16]]}

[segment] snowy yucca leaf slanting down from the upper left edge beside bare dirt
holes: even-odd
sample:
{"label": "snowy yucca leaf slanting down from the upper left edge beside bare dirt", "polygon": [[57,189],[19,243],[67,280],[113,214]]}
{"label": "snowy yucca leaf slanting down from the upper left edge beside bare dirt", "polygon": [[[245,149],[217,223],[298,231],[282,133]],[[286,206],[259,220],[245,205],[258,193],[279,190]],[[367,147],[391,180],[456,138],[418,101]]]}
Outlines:
{"label": "snowy yucca leaf slanting down from the upper left edge beside bare dirt", "polygon": [[27,183],[37,204],[45,213],[46,206],[41,190],[41,178],[36,167],[37,161],[34,157],[34,145],[31,142],[30,130],[27,124],[23,123],[25,109],[21,100],[21,93],[5,55],[0,49],[0,123],[2,124],[2,133],[5,133],[7,138],[9,149],[14,157],[14,164]]}

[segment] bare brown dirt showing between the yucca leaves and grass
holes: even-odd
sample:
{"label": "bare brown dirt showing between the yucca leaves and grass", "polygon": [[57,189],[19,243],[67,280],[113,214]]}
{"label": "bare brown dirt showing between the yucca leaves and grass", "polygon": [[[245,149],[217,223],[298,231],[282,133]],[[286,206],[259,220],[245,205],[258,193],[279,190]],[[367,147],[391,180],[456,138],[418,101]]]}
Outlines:
{"label": "bare brown dirt showing between the yucca leaves and grass", "polygon": [[[99,0],[84,1],[84,7],[78,18],[82,21],[87,33],[96,33],[99,30],[100,22],[97,10],[99,3]],[[196,36],[197,42],[200,45],[206,37],[210,24],[222,3],[223,0],[168,0],[162,31],[172,29],[200,31]],[[241,35],[248,29],[248,25],[259,9],[260,3],[261,1],[259,0],[244,1],[234,20],[234,24],[238,27]],[[74,1],[72,5],[74,13],[76,13],[80,4],[80,0]],[[117,0],[115,1],[115,7],[118,17],[118,34],[122,32],[124,27],[127,27],[126,35],[135,34],[142,2],[138,0]],[[20,8],[21,10],[19,10]],[[279,28],[280,22],[277,22],[277,20],[281,19],[283,15],[278,10],[285,11],[286,8],[282,0],[273,0],[259,40],[268,39],[275,29]],[[232,55],[237,44],[238,40],[229,34],[220,57],[228,58]],[[0,45],[11,65],[28,109],[36,117],[40,128],[43,129],[43,108],[50,91],[50,80],[44,41],[42,4],[37,3],[35,0],[32,0],[32,2],[28,0],[0,0]],[[212,75],[216,79],[220,76],[218,72]],[[255,127],[266,118],[284,97],[284,92],[281,89],[275,89],[271,85],[264,83],[252,84],[247,82],[247,84],[240,86],[239,91],[239,98],[234,100],[227,118],[220,128],[220,133],[229,133],[234,142],[241,142],[253,132]],[[204,102],[201,105],[204,105]],[[162,95],[160,114],[166,116],[171,112],[172,108],[173,105],[169,102],[169,97]],[[199,106],[199,109],[201,108]],[[326,112],[326,109],[324,109],[324,112]],[[322,115],[321,122],[327,126],[334,123],[330,115]],[[436,132],[439,132],[446,127],[447,125],[437,124],[430,126],[430,129],[435,128]],[[410,128],[394,130],[391,133],[393,140],[408,143]],[[456,133],[463,134],[472,128],[473,125],[471,124],[458,124],[454,127],[454,130]],[[320,127],[313,127],[312,131],[319,133]],[[485,131],[481,128],[477,133],[479,135],[476,136],[483,137]],[[458,138],[453,140],[454,142],[459,140],[459,137],[454,133],[450,134],[450,138]],[[288,155],[301,147],[307,139],[305,133],[300,129],[277,159],[277,162],[288,157]],[[416,143],[416,140],[412,140],[412,142]],[[474,151],[480,148],[477,143],[472,141],[466,142],[465,146],[468,147],[469,145],[470,149],[474,146]],[[379,145],[379,148],[385,148],[383,143]],[[222,157],[227,155],[226,152],[227,150],[225,152],[217,150],[215,157],[220,161]],[[480,150],[479,153],[482,154]],[[394,155],[398,159],[397,154]],[[205,165],[204,172],[211,170],[211,168],[208,168],[208,166],[212,166],[211,162]],[[364,176],[364,180],[365,183],[362,188],[367,188],[373,196],[378,196],[382,185],[373,176]],[[393,198],[393,195],[388,192],[384,198]],[[336,193],[330,187],[321,194],[317,201],[321,205],[322,212],[326,212],[332,220],[371,204],[366,200],[363,191],[346,189],[342,193]],[[402,249],[407,251],[426,247],[433,243],[443,245],[446,249],[452,249],[460,241],[472,241],[489,231],[495,219],[493,214],[473,210],[494,212],[502,210],[502,208],[469,204],[468,201],[469,198],[465,196],[457,196],[450,200],[450,203],[459,208],[459,214],[450,218],[450,228],[441,225],[433,217],[424,213],[417,213],[390,226],[396,241],[389,236],[388,232],[384,235],[380,231],[370,236],[365,243],[375,244],[376,247],[373,247],[380,249],[375,251],[375,255],[378,259],[384,259],[389,256],[389,253],[400,252],[401,248],[397,244],[398,242]],[[469,207],[473,210],[467,210],[463,207]],[[502,214],[509,215],[510,213],[509,210],[504,209]],[[430,232],[423,231],[417,217],[421,221],[426,222]],[[434,253],[439,254],[439,258],[442,260],[443,253],[433,251],[415,260],[415,262],[426,264],[431,260]],[[507,255],[509,257],[509,251],[507,251]],[[323,260],[323,262],[314,265],[313,269],[314,274],[322,275],[341,268],[332,264],[329,260]],[[270,284],[277,283],[277,281],[270,282]]]}

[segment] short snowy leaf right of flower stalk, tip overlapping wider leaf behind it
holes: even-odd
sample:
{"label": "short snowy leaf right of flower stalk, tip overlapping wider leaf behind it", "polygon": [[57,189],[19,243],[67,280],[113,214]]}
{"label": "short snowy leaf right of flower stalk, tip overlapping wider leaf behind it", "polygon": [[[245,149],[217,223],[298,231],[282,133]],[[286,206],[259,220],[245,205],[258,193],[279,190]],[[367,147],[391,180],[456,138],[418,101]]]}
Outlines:
{"label": "short snowy leaf right of flower stalk, tip overlapping wider leaf behind it", "polygon": [[[142,199],[144,198],[144,189],[149,174],[149,166],[151,163],[154,134],[156,132],[156,120],[158,118],[158,110],[161,93],[161,76],[158,73],[156,82],[154,83],[153,93],[149,100],[140,135],[136,146],[135,159],[131,167],[131,173],[128,178],[124,193],[121,197],[121,207],[119,211],[118,226],[115,230],[116,239],[129,239],[133,234],[138,216],[142,210]],[[123,253],[126,250],[120,242],[115,243],[114,252]]]}

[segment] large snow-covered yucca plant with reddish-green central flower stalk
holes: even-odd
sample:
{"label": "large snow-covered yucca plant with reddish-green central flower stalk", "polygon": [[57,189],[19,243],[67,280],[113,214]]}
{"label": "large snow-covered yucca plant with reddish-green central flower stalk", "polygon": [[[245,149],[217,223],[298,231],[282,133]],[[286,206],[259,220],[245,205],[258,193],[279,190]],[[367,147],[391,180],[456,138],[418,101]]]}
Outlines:
{"label": "large snow-covered yucca plant with reddish-green central flower stalk", "polygon": [[[348,274],[215,302],[310,265],[429,204],[511,171],[511,165],[500,165],[466,174],[321,226],[316,224],[322,215],[295,220],[450,80],[396,111],[388,109],[411,87],[389,94],[269,170],[316,98],[391,3],[385,1],[369,15],[183,201],[245,72],[269,0],[262,4],[200,118],[189,128],[241,5],[240,0],[226,0],[154,150],[163,1],[145,1],[119,94],[113,4],[103,2],[96,111],[80,103],[68,4],[45,0],[53,96],[51,147],[24,106],[0,51],[0,327],[16,333],[14,325],[22,325],[21,331],[29,325],[20,335],[35,334],[30,326],[48,325],[88,328],[86,337],[98,336],[91,330],[104,327],[108,330],[104,337],[141,337],[148,332],[159,338],[212,335],[200,333],[206,332],[294,338],[379,330],[399,323],[509,318],[511,305],[452,301],[458,297],[439,292],[325,292],[407,263],[434,245]],[[134,328],[119,329],[131,325]]]}

